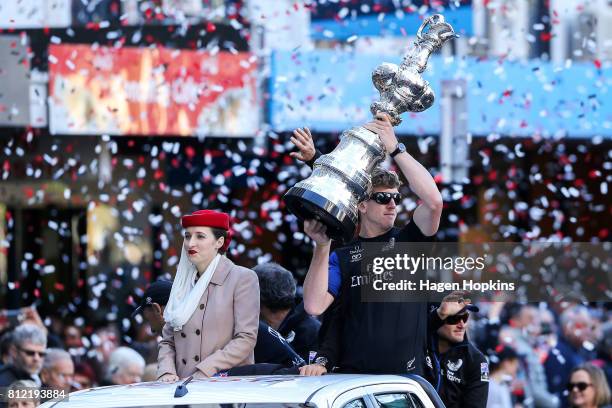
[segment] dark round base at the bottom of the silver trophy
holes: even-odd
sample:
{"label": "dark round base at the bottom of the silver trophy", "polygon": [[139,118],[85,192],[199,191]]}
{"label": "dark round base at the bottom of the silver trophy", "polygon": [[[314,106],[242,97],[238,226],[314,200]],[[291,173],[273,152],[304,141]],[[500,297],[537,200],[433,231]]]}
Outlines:
{"label": "dark round base at the bottom of the silver trophy", "polygon": [[292,187],[283,199],[289,211],[299,219],[316,219],[325,224],[330,238],[344,243],[353,239],[356,223],[345,209],[322,195],[301,187]]}

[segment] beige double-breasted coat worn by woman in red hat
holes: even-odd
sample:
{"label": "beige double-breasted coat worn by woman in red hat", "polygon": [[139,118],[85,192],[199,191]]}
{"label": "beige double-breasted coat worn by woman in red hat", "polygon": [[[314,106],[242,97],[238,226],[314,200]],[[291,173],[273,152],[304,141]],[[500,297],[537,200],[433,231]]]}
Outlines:
{"label": "beige double-breasted coat worn by woman in red hat", "polygon": [[157,377],[212,376],[253,364],[259,325],[259,281],[250,269],[221,257],[200,305],[175,332],[166,324],[157,357]]}

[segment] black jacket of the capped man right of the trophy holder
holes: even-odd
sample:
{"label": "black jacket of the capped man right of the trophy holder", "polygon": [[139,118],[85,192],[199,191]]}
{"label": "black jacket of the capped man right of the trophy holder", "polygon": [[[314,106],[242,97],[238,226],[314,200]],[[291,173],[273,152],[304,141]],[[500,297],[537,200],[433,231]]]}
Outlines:
{"label": "black jacket of the capped man right of the trophy holder", "polygon": [[430,313],[430,347],[425,358],[430,370],[428,378],[447,408],[485,408],[489,395],[489,363],[468,341],[467,334],[440,354],[437,329],[442,321],[437,312]]}

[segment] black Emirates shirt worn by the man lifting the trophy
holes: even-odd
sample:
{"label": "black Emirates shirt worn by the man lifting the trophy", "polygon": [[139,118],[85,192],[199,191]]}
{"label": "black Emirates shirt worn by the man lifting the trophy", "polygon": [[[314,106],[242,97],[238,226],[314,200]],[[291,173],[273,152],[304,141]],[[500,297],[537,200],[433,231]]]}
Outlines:
{"label": "black Emirates shirt worn by the man lifting the trophy", "polygon": [[376,237],[359,237],[333,251],[341,289],[323,316],[318,350],[328,360],[328,371],[339,367],[346,373],[424,375],[427,302],[362,300],[362,290],[374,275],[362,271],[362,258],[356,254],[365,246],[373,253],[390,243],[427,241],[431,237],[410,222]]}

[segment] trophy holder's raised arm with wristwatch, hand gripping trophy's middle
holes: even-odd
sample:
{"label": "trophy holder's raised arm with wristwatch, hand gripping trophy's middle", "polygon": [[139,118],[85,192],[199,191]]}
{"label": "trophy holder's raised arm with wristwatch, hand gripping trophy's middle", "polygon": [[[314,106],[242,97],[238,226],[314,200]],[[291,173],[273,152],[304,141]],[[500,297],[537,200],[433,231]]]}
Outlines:
{"label": "trophy holder's raised arm with wristwatch, hand gripping trophy's middle", "polygon": [[[379,112],[376,119],[364,127],[378,134],[385,145],[387,153],[392,153],[398,143],[389,117]],[[431,174],[408,152],[399,153],[394,157],[410,189],[422,201],[414,211],[412,219],[423,235],[431,236],[438,232],[440,216],[442,215],[442,195],[431,177]]]}

